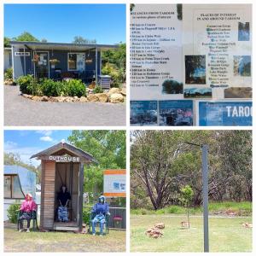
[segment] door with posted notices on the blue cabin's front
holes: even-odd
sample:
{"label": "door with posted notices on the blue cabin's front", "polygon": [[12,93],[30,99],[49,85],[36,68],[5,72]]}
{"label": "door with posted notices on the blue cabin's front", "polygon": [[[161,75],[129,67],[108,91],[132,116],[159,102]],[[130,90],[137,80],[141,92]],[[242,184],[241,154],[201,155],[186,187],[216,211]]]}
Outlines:
{"label": "door with posted notices on the blue cabin's front", "polygon": [[37,51],[33,56],[35,77],[37,79],[49,78],[49,52]]}

